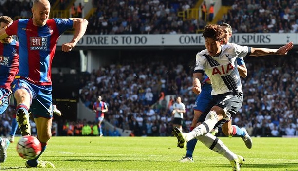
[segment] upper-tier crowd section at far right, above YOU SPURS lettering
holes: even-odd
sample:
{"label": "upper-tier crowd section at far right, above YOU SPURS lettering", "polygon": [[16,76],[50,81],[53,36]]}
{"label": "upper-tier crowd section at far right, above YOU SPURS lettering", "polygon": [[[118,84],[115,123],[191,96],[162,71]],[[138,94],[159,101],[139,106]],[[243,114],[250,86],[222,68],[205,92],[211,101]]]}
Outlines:
{"label": "upper-tier crowd section at far right, above YOU SPURS lettering", "polygon": [[298,0],[235,0],[223,21],[234,33],[297,33]]}

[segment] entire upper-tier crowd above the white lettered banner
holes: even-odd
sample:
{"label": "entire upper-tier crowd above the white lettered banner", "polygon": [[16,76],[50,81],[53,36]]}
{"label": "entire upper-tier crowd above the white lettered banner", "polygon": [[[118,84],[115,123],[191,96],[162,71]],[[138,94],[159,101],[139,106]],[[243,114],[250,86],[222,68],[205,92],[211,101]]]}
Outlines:
{"label": "entire upper-tier crowd above the white lettered banner", "polygon": [[[62,0],[69,3],[68,0]],[[196,33],[205,20],[184,20],[178,12],[193,8],[196,0],[93,0],[94,14],[87,34]],[[54,1],[52,1],[52,4]],[[210,4],[211,5],[211,4]],[[208,9],[210,6],[207,7]],[[298,0],[235,0],[217,23],[229,23],[234,33],[297,33]],[[29,18],[31,2],[1,0],[0,16]]]}

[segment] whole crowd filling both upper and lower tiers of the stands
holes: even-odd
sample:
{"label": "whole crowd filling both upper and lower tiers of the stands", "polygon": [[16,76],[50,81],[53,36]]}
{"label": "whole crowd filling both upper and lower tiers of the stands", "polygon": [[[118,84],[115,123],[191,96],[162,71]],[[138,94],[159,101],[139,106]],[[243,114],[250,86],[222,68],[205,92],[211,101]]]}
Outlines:
{"label": "whole crowd filling both upper and lower tiers of the stands", "polygon": [[[137,3],[128,1],[128,4],[120,0],[113,0],[114,3],[111,4],[104,2],[93,1],[96,11],[89,18],[87,34],[186,34],[196,33],[196,30],[204,28],[206,24],[202,19],[185,19],[179,16],[183,9],[187,11],[197,5],[193,0],[188,0],[186,4],[179,0],[140,0]],[[298,32],[297,0],[224,2],[226,4],[223,5],[228,6],[229,10],[221,18],[215,17],[212,23],[230,23],[233,33]],[[0,15],[12,16],[14,19],[31,16],[31,5],[25,0],[0,3]],[[63,8],[67,8],[70,3],[72,1],[65,1]],[[53,6],[54,4],[53,2]],[[298,135],[298,61],[294,55],[289,55],[286,60],[274,57],[246,59],[248,76],[242,79],[244,102],[233,122],[246,127],[250,135]],[[96,96],[102,95],[109,104],[107,120],[114,126],[133,131],[135,136],[171,136],[169,108],[159,97],[161,94],[172,98],[182,95],[187,108],[184,129],[188,130],[193,114],[192,105],[196,98],[189,90],[192,85],[192,69],[189,66],[194,57],[181,65],[181,61],[168,62],[157,53],[150,54],[148,58],[151,59],[151,56],[164,60],[124,60],[82,75],[53,74],[53,80],[72,84],[75,76],[80,88],[78,96],[84,104],[90,108]],[[146,92],[150,90],[154,95],[153,101],[145,98]],[[154,105],[158,100],[161,102]],[[149,111],[154,112],[150,117]],[[13,110],[9,108],[0,115],[1,136],[6,136],[10,129],[12,113]],[[66,135],[69,125],[81,127],[88,124],[84,120],[57,122],[58,135]],[[272,133],[272,130],[277,130],[277,133]],[[72,131],[69,135],[80,134]]]}

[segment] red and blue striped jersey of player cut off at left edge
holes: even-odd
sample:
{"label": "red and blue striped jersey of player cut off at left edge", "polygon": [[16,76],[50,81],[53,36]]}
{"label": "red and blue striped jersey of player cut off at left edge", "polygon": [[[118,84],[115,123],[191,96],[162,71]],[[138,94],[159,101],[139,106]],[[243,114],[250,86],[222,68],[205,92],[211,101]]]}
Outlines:
{"label": "red and blue striped jersey of player cut off at left edge", "polygon": [[0,42],[0,88],[10,90],[19,67],[19,42]]}

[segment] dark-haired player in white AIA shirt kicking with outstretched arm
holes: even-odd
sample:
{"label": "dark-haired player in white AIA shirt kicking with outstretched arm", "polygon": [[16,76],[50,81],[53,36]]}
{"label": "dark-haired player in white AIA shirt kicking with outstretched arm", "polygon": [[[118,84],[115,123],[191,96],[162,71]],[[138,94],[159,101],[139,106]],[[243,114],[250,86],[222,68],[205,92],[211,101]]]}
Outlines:
{"label": "dark-haired player in white AIA shirt kicking with outstretched arm", "polygon": [[286,55],[293,48],[293,42],[279,49],[251,48],[232,43],[223,45],[223,35],[224,32],[219,25],[207,25],[203,32],[206,49],[196,55],[192,90],[197,95],[201,93],[200,80],[205,72],[212,83],[213,107],[205,121],[193,131],[183,133],[175,127],[173,133],[178,139],[178,147],[183,148],[188,141],[197,138],[213,151],[226,157],[232,165],[232,171],[240,171],[244,158],[231,152],[220,139],[209,133],[219,121],[230,120],[242,106],[242,84],[236,59],[248,55]]}

